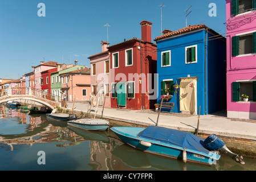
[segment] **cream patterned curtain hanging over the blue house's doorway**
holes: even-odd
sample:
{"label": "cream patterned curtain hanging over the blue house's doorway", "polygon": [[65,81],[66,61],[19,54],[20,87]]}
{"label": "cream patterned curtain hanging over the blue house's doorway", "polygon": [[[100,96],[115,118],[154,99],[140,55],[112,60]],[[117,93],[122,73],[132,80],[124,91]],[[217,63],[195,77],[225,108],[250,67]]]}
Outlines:
{"label": "cream patterned curtain hanging over the blue house's doorway", "polygon": [[180,110],[197,111],[197,78],[182,78],[180,82]]}

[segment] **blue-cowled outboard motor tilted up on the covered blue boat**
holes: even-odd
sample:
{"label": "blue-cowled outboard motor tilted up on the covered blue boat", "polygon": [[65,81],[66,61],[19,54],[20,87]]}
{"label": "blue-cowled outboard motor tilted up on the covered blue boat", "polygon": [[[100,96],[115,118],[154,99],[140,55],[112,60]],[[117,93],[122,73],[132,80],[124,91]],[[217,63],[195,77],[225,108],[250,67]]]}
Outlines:
{"label": "blue-cowled outboard motor tilted up on the covered blue boat", "polygon": [[218,138],[216,134],[209,135],[209,137],[204,140],[204,144],[205,148],[210,151],[218,150],[220,152],[224,152],[236,162],[245,164],[245,162],[243,162],[243,156],[238,156],[237,154],[231,152],[229,148],[226,147],[225,143],[220,138]]}

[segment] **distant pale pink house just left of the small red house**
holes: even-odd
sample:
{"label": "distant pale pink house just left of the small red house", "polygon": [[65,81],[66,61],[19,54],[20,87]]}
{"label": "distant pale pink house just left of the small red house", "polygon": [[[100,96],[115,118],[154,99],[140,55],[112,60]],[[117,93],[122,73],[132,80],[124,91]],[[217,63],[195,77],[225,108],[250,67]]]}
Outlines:
{"label": "distant pale pink house just left of the small red house", "polygon": [[34,68],[35,73],[35,89],[42,90],[42,75],[41,72],[47,71],[48,69],[52,69],[57,67],[57,62],[55,61],[49,61],[47,63],[44,63],[44,61],[40,61],[40,64],[37,65]]}

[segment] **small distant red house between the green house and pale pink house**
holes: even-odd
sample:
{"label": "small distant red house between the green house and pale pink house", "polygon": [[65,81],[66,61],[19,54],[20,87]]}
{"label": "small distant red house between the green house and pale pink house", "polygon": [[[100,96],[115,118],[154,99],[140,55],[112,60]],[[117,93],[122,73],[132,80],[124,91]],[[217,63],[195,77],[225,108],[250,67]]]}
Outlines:
{"label": "small distant red house between the green house and pale pink house", "polygon": [[51,93],[51,73],[56,71],[58,71],[58,68],[48,69],[41,72],[41,86],[43,92]]}

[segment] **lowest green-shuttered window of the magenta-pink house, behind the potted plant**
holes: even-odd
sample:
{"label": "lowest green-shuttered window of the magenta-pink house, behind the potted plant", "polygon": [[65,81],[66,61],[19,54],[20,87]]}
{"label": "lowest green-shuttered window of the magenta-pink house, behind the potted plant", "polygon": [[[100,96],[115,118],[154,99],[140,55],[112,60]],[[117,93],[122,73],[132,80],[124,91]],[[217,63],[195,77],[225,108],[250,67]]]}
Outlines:
{"label": "lowest green-shuttered window of the magenta-pink house, behind the potted plant", "polygon": [[242,94],[249,96],[249,101],[256,102],[256,81],[241,81],[232,83],[233,101],[243,101]]}

